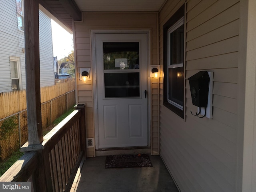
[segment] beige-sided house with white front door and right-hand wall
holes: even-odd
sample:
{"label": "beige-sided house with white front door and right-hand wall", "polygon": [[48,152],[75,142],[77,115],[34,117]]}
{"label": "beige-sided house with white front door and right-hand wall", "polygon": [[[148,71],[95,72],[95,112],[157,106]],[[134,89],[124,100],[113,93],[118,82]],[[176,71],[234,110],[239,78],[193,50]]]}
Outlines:
{"label": "beige-sided house with white front door and right-hand wall", "polygon": [[[77,20],[59,15],[74,33],[88,157],[160,154],[181,192],[256,191],[255,0],[40,2]],[[188,78],[204,70],[212,118],[190,113]]]}

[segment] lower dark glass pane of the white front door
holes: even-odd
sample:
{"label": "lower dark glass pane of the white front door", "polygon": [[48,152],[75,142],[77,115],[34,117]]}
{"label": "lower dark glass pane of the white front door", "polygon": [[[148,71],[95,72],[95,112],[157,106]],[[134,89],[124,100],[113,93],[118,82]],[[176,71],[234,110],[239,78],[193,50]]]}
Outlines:
{"label": "lower dark glass pane of the white front door", "polygon": [[104,73],[105,98],[140,97],[140,73]]}

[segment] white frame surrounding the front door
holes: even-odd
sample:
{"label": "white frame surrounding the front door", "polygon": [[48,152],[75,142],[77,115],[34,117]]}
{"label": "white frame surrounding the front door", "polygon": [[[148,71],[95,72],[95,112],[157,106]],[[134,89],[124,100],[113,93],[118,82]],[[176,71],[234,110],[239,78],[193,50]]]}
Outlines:
{"label": "white frame surrounding the front door", "polygon": [[[147,34],[147,42],[148,42],[148,65],[147,65],[147,73],[149,65],[151,65],[151,33],[150,30],[90,30],[91,35],[91,47],[92,47],[92,79],[93,79],[93,103],[94,103],[94,134],[95,134],[95,149],[99,148],[99,140],[98,140],[98,93],[97,93],[97,74],[96,74],[96,46],[95,46],[95,34],[100,33],[146,33]],[[148,76],[148,146],[151,143],[151,86],[150,86],[150,78]]]}

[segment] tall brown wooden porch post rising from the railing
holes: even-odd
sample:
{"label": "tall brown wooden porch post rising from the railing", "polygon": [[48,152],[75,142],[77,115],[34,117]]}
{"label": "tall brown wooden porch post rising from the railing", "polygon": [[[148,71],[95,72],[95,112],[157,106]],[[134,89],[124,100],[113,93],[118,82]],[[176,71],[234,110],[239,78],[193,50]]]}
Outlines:
{"label": "tall brown wooden porch post rising from the railing", "polygon": [[28,144],[43,141],[40,66],[39,66],[39,4],[38,0],[24,1],[26,90],[28,113]]}

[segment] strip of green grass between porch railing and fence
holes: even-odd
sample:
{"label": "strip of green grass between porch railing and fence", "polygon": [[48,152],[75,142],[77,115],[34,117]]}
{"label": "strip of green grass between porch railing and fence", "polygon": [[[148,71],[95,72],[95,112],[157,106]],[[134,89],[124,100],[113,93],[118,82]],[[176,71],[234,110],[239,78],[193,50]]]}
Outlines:
{"label": "strip of green grass between porch railing and fence", "polygon": [[[62,116],[54,120],[51,126],[43,130],[43,135],[46,135],[52,128],[54,128],[58,123],[60,123],[66,116],[74,111],[74,107],[66,111]],[[9,158],[0,162],[0,176],[4,174],[24,153],[20,151],[14,152]]]}

